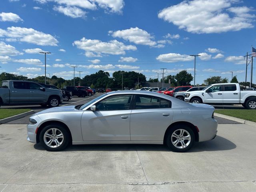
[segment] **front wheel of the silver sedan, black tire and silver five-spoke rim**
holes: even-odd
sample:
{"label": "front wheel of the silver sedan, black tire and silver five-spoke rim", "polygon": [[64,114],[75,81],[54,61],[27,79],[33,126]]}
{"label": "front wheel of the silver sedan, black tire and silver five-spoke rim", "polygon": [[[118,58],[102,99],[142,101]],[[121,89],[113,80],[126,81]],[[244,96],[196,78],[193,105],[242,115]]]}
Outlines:
{"label": "front wheel of the silver sedan, black tire and silver five-spoke rim", "polygon": [[67,130],[58,124],[44,127],[40,132],[39,139],[42,146],[48,151],[63,150],[70,143]]}

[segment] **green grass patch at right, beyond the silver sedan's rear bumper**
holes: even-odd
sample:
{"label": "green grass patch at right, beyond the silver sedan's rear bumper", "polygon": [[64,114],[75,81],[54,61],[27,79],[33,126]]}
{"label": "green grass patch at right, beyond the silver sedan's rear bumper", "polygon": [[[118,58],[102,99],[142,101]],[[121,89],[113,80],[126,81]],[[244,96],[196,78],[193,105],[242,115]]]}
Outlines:
{"label": "green grass patch at right, beyond the silver sedan's rear bumper", "polygon": [[223,115],[228,115],[232,117],[237,117],[244,120],[249,120],[256,122],[256,110],[246,110],[246,109],[221,109],[215,110],[216,113],[220,113]]}

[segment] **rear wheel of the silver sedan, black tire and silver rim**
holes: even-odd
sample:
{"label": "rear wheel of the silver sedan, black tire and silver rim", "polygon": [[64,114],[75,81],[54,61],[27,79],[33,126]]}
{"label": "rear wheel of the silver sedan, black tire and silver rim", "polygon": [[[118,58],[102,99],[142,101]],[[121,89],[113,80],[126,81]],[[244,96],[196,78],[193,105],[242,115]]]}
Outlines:
{"label": "rear wheel of the silver sedan, black tire and silver rim", "polygon": [[194,132],[183,124],[174,126],[167,134],[166,144],[174,152],[186,152],[195,143]]}

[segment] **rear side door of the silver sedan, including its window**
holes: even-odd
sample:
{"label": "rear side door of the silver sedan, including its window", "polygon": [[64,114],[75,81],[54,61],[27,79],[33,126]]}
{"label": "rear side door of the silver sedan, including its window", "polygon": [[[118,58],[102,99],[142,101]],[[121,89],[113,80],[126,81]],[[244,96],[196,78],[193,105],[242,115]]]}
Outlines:
{"label": "rear side door of the silver sedan, including its window", "polygon": [[137,95],[134,102],[130,121],[131,140],[163,140],[166,129],[172,124],[171,102],[147,95]]}

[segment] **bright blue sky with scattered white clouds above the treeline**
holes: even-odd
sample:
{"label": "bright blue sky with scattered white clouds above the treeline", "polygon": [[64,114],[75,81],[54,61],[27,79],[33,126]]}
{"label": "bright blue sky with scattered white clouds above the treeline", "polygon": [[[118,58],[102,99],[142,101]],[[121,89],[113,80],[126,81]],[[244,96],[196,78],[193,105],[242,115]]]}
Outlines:
{"label": "bright blue sky with scattered white clouds above the treeline", "polygon": [[44,75],[38,52],[48,51],[47,74],[65,79],[73,78],[70,66],[82,77],[134,70],[149,79],[160,68],[194,76],[189,55],[200,54],[196,84],[210,76],[231,80],[230,71],[245,81],[255,8],[253,0],[1,0],[0,72]]}

